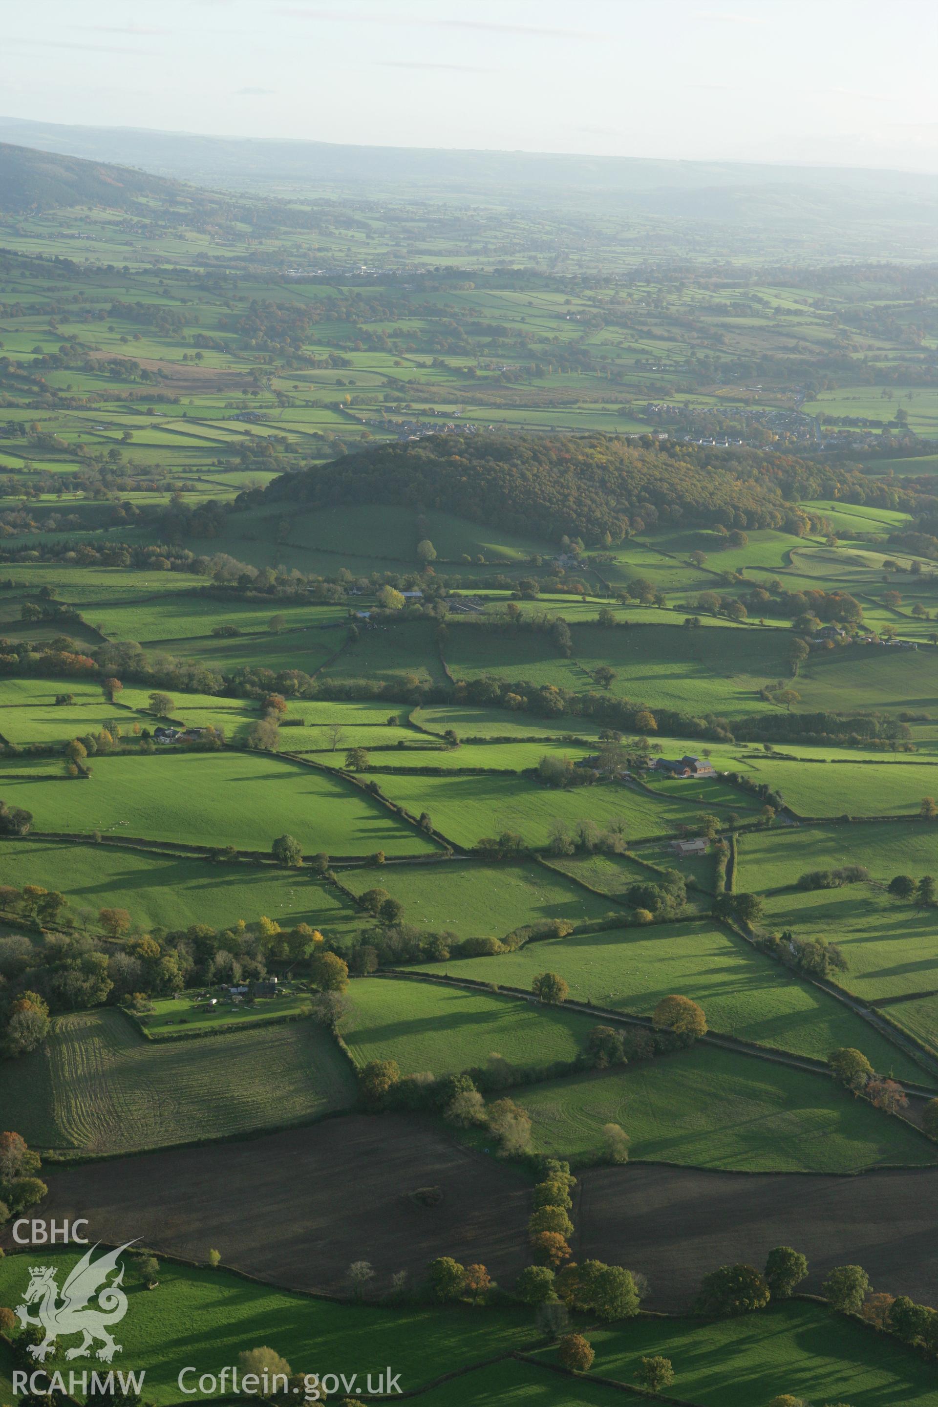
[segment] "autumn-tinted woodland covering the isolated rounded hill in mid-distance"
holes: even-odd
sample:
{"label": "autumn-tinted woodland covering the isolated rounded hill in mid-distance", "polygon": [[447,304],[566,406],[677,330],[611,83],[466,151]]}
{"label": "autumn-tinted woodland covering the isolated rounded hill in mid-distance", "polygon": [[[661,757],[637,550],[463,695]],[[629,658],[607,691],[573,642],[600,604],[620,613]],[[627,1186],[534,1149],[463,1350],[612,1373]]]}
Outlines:
{"label": "autumn-tinted woodland covering the isolated rounded hill in mid-distance", "polygon": [[870,491],[844,467],[645,436],[430,435],[284,474],[238,502],[404,504],[548,542],[568,533],[596,543],[657,523],[803,532],[807,516],[789,499],[845,488]]}

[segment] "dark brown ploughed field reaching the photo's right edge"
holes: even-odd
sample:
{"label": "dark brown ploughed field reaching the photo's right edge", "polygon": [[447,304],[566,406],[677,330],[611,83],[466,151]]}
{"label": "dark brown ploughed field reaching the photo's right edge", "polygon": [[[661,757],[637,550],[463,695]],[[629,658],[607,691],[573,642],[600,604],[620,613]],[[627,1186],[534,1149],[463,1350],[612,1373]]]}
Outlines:
{"label": "dark brown ploughed field reaching the photo's right edge", "polygon": [[803,1290],[835,1265],[862,1265],[873,1289],[938,1303],[938,1168],[855,1178],[593,1168],[579,1188],[575,1252],[643,1271],[653,1309],[682,1309],[727,1262],[759,1269],[775,1245],[810,1262]]}

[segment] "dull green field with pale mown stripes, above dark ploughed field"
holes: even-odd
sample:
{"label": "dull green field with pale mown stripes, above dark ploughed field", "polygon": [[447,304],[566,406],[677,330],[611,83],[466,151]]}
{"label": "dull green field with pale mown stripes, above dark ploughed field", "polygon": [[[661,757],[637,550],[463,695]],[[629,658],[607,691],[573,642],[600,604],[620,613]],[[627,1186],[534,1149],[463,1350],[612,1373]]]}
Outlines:
{"label": "dull green field with pale mown stripes, above dark ploughed field", "polygon": [[347,1061],[312,1021],[148,1041],[108,1009],[56,1017],[44,1047],[0,1065],[0,1088],[28,1142],[98,1155],[280,1127],[354,1102]]}

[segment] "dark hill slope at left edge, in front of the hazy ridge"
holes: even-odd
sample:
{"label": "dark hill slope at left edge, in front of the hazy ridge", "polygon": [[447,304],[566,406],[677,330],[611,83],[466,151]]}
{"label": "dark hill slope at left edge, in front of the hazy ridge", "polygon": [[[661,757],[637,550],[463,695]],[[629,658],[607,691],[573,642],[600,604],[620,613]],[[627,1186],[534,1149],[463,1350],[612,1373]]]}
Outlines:
{"label": "dark hill slope at left edge, in front of the hazy ridge", "polygon": [[21,214],[62,205],[122,208],[141,196],[174,197],[177,182],[77,156],[0,142],[0,210]]}

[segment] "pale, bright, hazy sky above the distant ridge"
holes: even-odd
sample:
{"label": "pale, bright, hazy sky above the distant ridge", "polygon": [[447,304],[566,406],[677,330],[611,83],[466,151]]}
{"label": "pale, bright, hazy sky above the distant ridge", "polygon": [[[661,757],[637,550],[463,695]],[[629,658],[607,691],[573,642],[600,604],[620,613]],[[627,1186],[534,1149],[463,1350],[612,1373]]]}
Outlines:
{"label": "pale, bright, hazy sky above the distant ridge", "polygon": [[935,0],[0,0],[0,113],[938,172]]}

